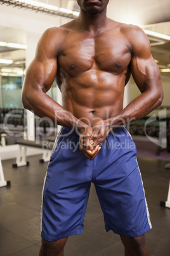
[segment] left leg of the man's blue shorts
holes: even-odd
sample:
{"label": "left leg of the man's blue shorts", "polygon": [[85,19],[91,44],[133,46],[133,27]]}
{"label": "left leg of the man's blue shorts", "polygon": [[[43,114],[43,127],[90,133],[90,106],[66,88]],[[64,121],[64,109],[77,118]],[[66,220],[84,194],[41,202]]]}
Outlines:
{"label": "left leg of the man's blue shorts", "polygon": [[81,234],[91,185],[87,158],[70,143],[75,136],[60,139],[49,161],[42,192],[41,236],[48,241]]}

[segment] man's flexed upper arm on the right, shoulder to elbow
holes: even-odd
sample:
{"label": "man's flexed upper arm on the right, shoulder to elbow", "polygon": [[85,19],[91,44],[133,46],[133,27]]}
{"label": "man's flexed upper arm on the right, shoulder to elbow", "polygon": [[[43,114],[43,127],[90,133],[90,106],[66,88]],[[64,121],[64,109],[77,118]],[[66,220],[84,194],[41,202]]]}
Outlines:
{"label": "man's flexed upper arm on the right, shoulder to elbow", "polygon": [[160,71],[152,57],[150,42],[139,27],[133,26],[128,32],[131,43],[131,73],[141,92],[152,90],[162,94]]}

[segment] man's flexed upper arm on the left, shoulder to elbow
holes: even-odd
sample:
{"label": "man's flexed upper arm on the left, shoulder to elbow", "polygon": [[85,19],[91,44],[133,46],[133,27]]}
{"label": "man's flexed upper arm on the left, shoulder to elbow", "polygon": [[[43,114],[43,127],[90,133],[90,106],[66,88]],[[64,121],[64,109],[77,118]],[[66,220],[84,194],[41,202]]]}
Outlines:
{"label": "man's flexed upper arm on the left, shoulder to elbow", "polygon": [[55,27],[42,34],[36,55],[26,71],[23,94],[30,90],[47,92],[50,89],[57,72],[57,56],[62,38],[63,31]]}

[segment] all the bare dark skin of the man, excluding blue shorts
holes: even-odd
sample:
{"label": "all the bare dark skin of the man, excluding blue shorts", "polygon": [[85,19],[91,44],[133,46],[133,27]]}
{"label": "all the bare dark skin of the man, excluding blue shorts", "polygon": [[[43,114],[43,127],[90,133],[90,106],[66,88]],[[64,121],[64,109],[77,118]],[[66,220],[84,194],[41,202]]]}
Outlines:
{"label": "all the bare dark skin of the man, excluding blue shorts", "polygon": [[[78,0],[78,18],[42,34],[36,57],[27,69],[23,106],[79,134],[80,150],[93,160],[108,133],[117,125],[137,120],[162,103],[160,72],[144,32],[106,16],[108,0]],[[133,75],[140,89],[123,109],[124,87]],[[46,92],[53,80],[63,106]],[[150,255],[145,236],[121,236],[126,256]],[[67,238],[42,239],[40,256],[63,255]]]}

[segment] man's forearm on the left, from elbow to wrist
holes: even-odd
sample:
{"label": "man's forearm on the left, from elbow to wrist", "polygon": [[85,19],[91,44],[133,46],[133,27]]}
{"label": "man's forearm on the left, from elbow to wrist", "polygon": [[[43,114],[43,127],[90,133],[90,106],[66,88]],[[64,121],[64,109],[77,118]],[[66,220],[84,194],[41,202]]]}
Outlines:
{"label": "man's forearm on the left, from elbow to wrist", "polygon": [[74,127],[79,132],[84,131],[87,126],[41,90],[30,93],[23,91],[22,101],[24,108],[32,111],[38,117],[50,118],[55,124],[71,129]]}

